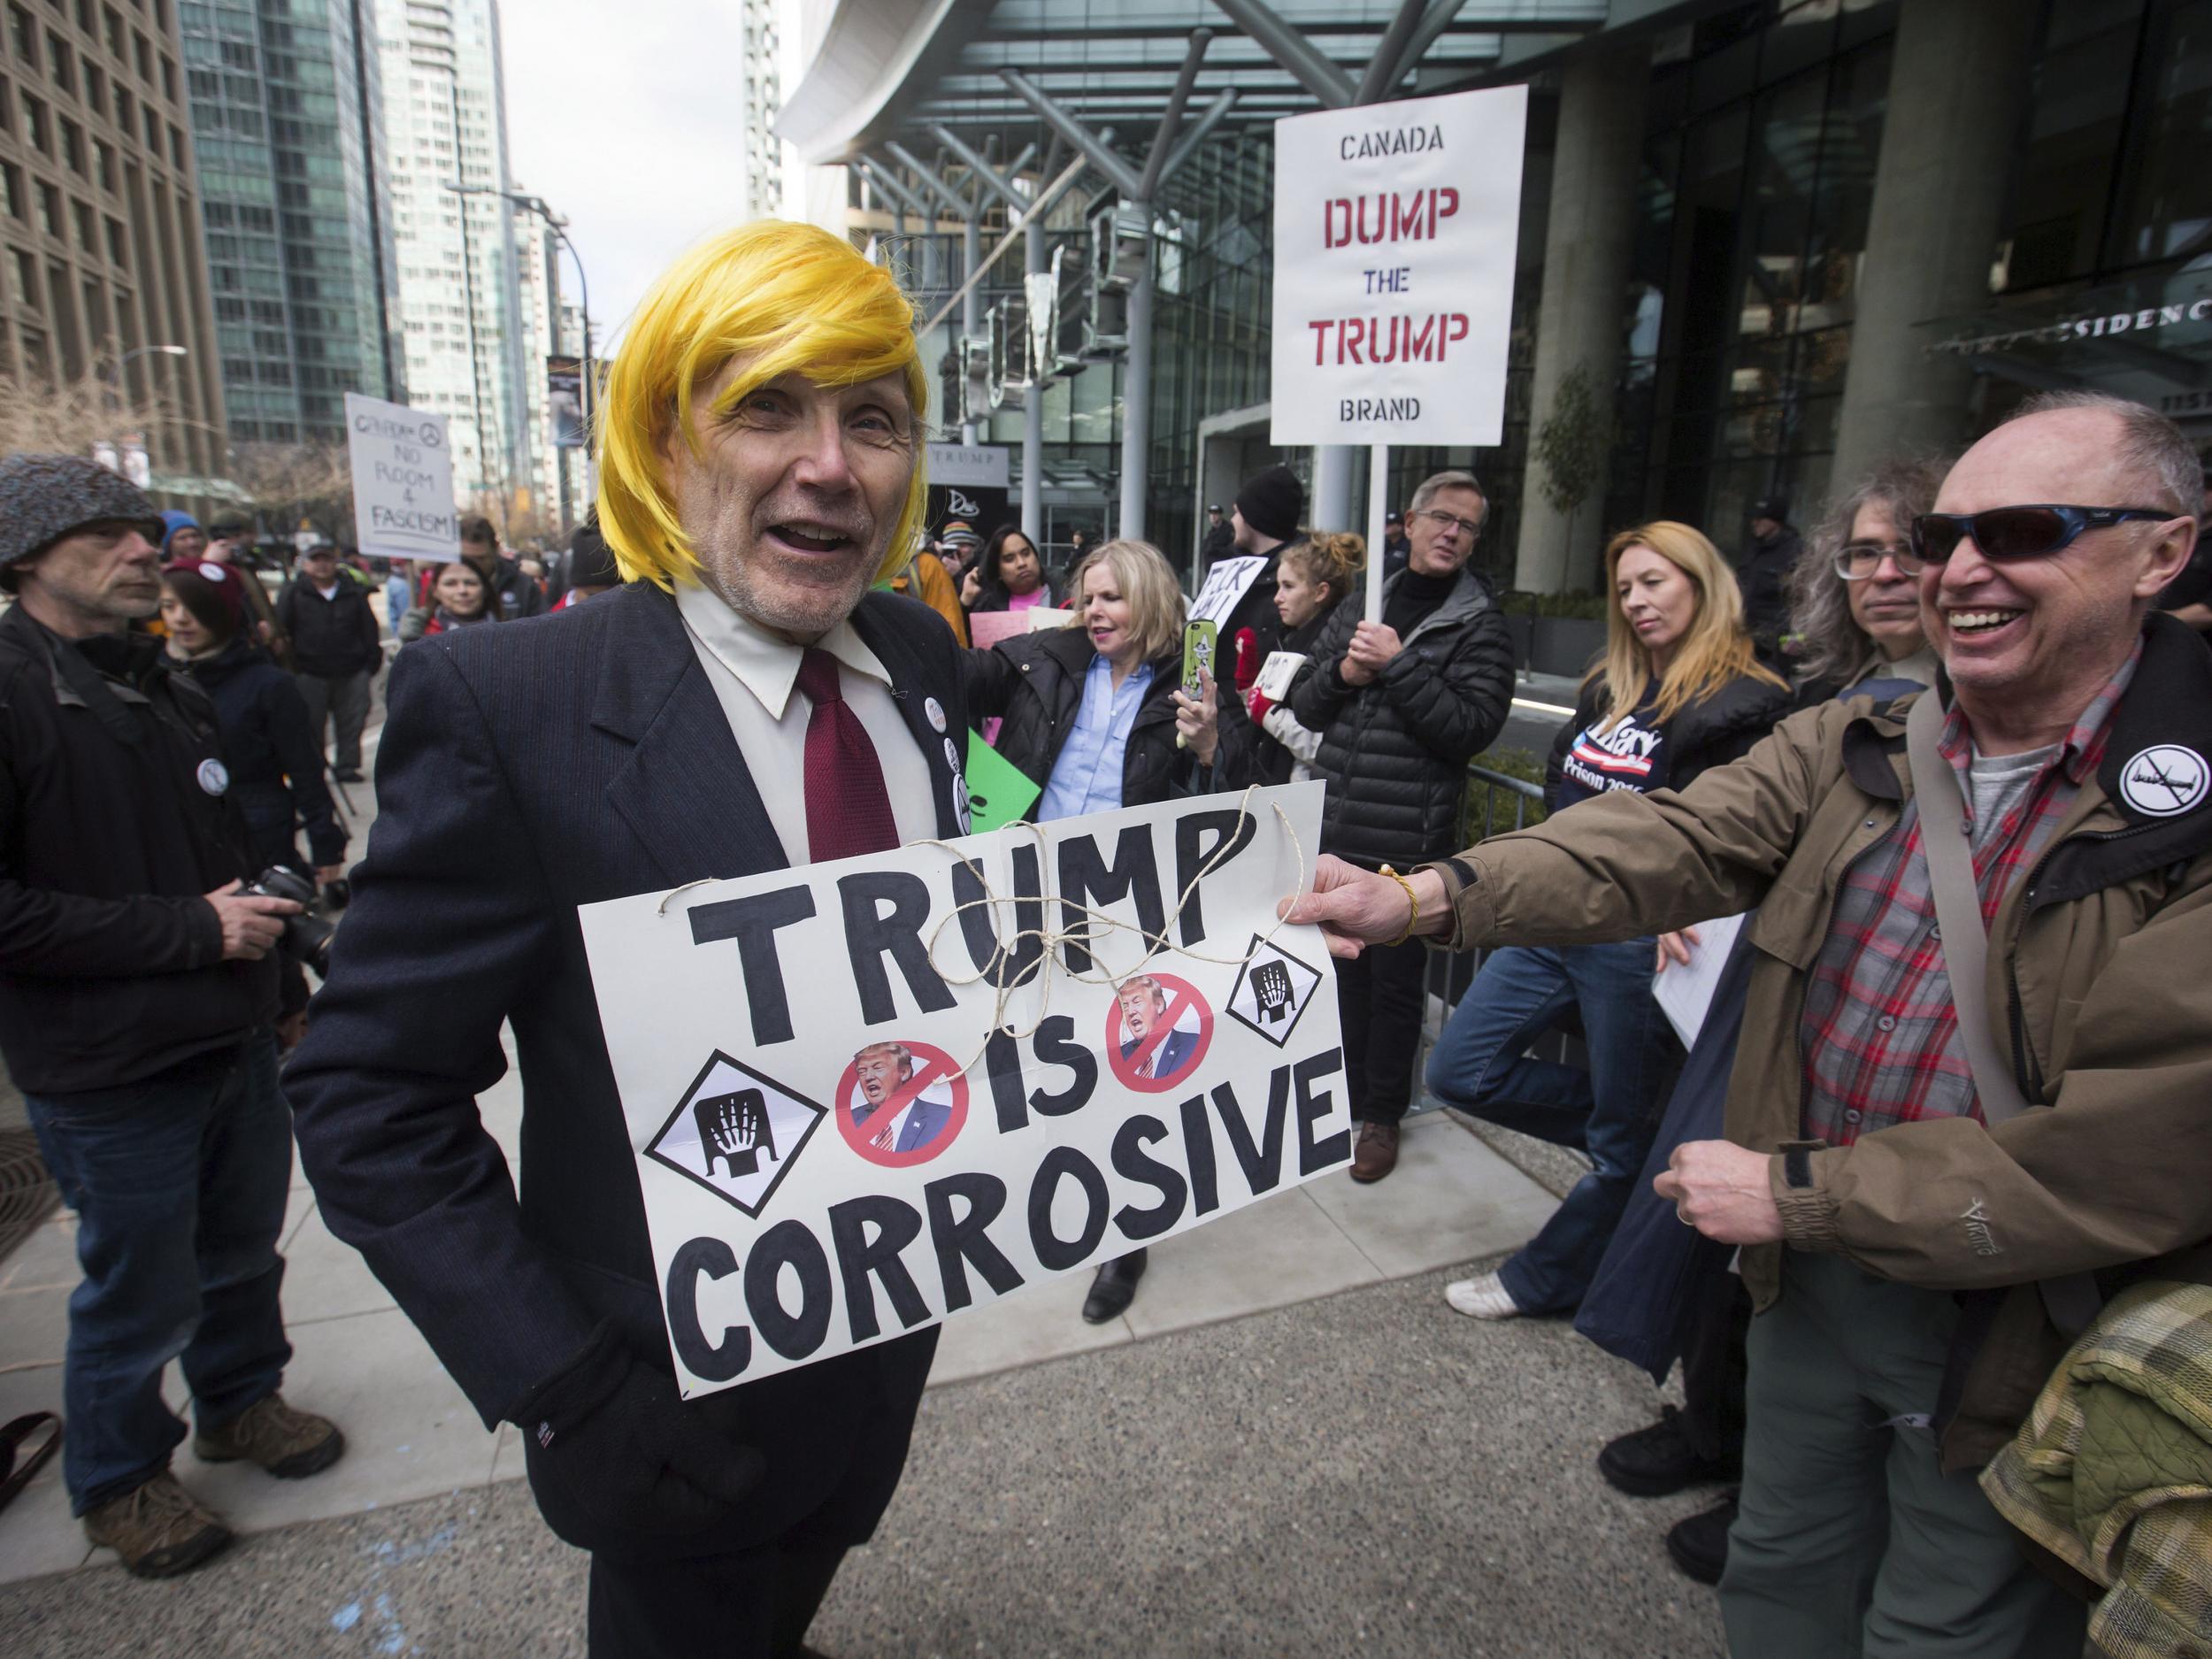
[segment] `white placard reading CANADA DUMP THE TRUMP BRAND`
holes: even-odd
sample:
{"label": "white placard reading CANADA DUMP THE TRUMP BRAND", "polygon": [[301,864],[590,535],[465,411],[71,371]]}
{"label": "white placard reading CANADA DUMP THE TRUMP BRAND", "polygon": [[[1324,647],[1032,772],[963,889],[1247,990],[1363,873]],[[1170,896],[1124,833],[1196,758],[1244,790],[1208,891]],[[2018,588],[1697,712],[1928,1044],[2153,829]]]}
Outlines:
{"label": "white placard reading CANADA DUMP THE TRUMP BRAND", "polygon": [[1528,88],[1274,124],[1276,445],[1504,434]]}

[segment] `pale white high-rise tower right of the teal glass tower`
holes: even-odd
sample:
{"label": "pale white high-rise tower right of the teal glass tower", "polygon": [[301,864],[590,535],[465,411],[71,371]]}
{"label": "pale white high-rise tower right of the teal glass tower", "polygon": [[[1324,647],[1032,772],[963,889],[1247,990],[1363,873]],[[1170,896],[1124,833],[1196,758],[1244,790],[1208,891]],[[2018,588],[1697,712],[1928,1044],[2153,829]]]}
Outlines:
{"label": "pale white high-rise tower right of the teal glass tower", "polygon": [[456,493],[504,522],[533,467],[500,9],[378,0],[376,38],[407,400],[451,418]]}

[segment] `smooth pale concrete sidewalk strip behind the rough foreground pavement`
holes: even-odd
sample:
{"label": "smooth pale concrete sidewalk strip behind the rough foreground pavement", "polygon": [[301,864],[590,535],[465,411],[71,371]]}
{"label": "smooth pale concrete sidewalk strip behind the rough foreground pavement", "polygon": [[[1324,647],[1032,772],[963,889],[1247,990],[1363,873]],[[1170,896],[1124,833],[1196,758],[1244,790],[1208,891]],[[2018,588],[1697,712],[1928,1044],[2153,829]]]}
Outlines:
{"label": "smooth pale concrete sidewalk strip behind the rough foreground pavement", "polygon": [[[513,1071],[482,1102],[515,1161],[522,1124]],[[1334,1175],[1239,1210],[1152,1252],[1128,1314],[1077,1316],[1088,1274],[1033,1285],[945,1327],[933,1385],[1088,1349],[1128,1347],[1252,1312],[1378,1285],[1506,1250],[1542,1225],[1553,1197],[1444,1115],[1409,1124],[1398,1172],[1363,1188]],[[201,1464],[186,1447],[177,1475],[239,1531],[358,1515],[456,1495],[522,1475],[513,1425],[487,1433],[460,1389],[369,1274],[323,1225],[294,1175],[285,1221],[285,1318],[296,1349],[285,1396],[345,1427],[347,1455],[314,1480],[272,1482],[248,1464]],[[0,1267],[0,1420],[60,1409],[69,1292],[77,1283],[75,1219],[46,1221]],[[186,1407],[175,1367],[168,1396]],[[69,1515],[60,1460],[0,1513],[0,1584],[113,1562]]]}

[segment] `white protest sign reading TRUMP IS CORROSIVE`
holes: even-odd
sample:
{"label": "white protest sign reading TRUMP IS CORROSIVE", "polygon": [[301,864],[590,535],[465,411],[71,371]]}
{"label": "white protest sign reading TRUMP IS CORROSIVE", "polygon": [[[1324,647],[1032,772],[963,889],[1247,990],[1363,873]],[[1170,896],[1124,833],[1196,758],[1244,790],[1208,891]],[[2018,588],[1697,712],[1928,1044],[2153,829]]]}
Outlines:
{"label": "white protest sign reading TRUMP IS CORROSIVE", "polygon": [[1343,1168],[1329,956],[1276,920],[1321,794],[582,907],[681,1391],[900,1336]]}

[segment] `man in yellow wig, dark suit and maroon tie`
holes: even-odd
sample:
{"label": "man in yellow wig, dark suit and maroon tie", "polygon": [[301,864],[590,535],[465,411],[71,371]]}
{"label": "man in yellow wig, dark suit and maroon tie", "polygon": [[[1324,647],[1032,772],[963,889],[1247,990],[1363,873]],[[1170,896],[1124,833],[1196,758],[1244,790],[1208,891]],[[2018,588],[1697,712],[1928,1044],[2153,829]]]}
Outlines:
{"label": "man in yellow wig, dark suit and maroon tie", "polygon": [[[896,281],[754,223],[639,305],[599,409],[626,586],[400,653],[380,816],[285,1073],[332,1232],[593,1553],[591,1652],[796,1655],[898,1484],[936,1332],[697,1402],[745,1340],[664,1325],[577,905],[967,827],[945,619],[872,591],[922,507]],[[524,1077],[520,1199],[476,1097]],[[734,1263],[732,1263],[734,1265]],[[692,1281],[701,1274],[695,1270]]]}

